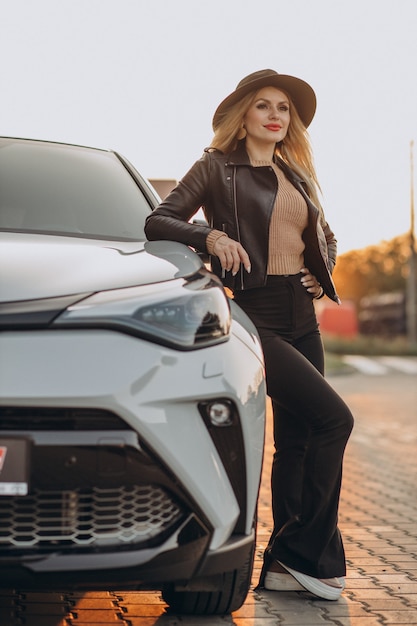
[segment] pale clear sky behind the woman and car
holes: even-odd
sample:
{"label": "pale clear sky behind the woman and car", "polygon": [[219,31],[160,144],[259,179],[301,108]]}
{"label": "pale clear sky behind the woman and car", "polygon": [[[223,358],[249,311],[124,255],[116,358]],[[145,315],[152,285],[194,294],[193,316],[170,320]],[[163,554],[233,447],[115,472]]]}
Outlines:
{"label": "pale clear sky behind the woman and car", "polygon": [[316,92],[339,253],[409,231],[416,0],[0,0],[0,20],[0,135],[114,149],[178,180],[221,100],[271,68]]}

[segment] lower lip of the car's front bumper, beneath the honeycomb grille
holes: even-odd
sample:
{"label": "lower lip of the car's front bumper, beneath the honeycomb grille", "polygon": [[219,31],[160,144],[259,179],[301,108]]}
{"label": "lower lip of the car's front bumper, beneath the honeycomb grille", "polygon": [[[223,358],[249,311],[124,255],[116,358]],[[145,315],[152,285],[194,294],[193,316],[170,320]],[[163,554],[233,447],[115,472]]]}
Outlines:
{"label": "lower lip of the car's front bumper, beneath the honeycomb grille", "polygon": [[[189,540],[180,545],[182,534]],[[208,536],[191,517],[165,545],[146,553],[132,550],[93,556],[52,555],[45,561],[20,563],[0,559],[0,587],[151,590],[192,580],[194,586],[205,590],[216,575],[247,563],[254,541],[252,530],[249,535],[232,535],[218,550],[207,551]]]}

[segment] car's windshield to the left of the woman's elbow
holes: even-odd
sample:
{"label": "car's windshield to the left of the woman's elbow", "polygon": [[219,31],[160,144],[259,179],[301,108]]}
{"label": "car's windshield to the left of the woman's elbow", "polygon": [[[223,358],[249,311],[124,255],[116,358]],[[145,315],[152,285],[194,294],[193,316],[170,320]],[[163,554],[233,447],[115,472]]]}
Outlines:
{"label": "car's windshield to the left of the woman's elbow", "polygon": [[0,139],[0,230],[143,241],[150,210],[112,152]]}

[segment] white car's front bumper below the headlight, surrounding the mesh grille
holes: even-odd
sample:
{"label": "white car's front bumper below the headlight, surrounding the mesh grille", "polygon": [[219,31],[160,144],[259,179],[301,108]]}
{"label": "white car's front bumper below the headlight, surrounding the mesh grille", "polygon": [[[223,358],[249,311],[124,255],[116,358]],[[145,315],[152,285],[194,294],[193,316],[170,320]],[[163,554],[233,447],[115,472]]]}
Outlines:
{"label": "white car's front bumper below the headlight, surrounding the mesh grille", "polygon": [[[83,489],[156,484],[172,499],[174,509],[178,505],[178,512],[174,510],[166,528],[159,528],[155,536],[136,535],[125,541],[119,528],[112,540],[112,528],[100,534],[102,524],[107,524],[106,512],[104,522],[100,512],[94,541],[91,529],[83,536],[85,528],[81,539],[68,546],[50,529],[44,543],[36,540],[36,546],[32,537],[27,546],[25,537],[6,546],[0,536],[0,584],[56,588],[82,586],[85,581],[91,588],[93,580],[100,587],[129,586],[133,581],[135,588],[143,588],[158,580],[189,580],[200,571],[206,575],[220,566],[223,555],[222,567],[239,554],[242,561],[247,558],[265,406],[262,363],[245,345],[241,329],[239,338],[186,353],[115,332],[5,332],[0,335],[0,353],[0,409],[18,407],[36,414],[71,408],[115,416],[111,427],[104,421],[102,428],[95,428],[90,420],[88,429],[80,431],[67,426],[61,431],[55,426],[0,430],[0,436],[32,441],[29,495],[36,490],[40,497],[67,491],[65,510],[71,517],[71,499],[81,502]],[[246,466],[241,500],[222,462],[222,451],[197,409],[201,400],[218,397],[232,400],[239,413]],[[241,534],[234,535],[242,502],[246,521]],[[6,503],[7,498],[0,497],[0,511]],[[43,530],[41,524],[41,535]],[[223,571],[230,569],[230,562]]]}

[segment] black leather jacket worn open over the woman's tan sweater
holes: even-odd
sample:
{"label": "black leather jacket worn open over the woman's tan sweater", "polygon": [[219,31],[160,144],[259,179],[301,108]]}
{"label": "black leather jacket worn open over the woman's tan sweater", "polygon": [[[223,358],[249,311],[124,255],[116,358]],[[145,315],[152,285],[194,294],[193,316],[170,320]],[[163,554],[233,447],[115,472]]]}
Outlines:
{"label": "black leather jacket worn open over the woman's tan sweater", "polygon": [[[336,239],[311,202],[303,181],[281,160],[276,160],[290,182],[307,202],[308,225],[303,233],[305,266],[316,276],[324,292],[339,302],[331,278],[336,262]],[[232,291],[262,287],[266,283],[268,233],[278,180],[270,166],[253,167],[239,142],[231,154],[206,149],[198,160],[147,218],[148,239],[169,239],[207,252],[211,229],[222,230],[239,241],[249,254],[251,273],[243,267],[236,276],[222,272],[219,259],[211,258],[212,270]],[[202,207],[208,226],[189,220]]]}

